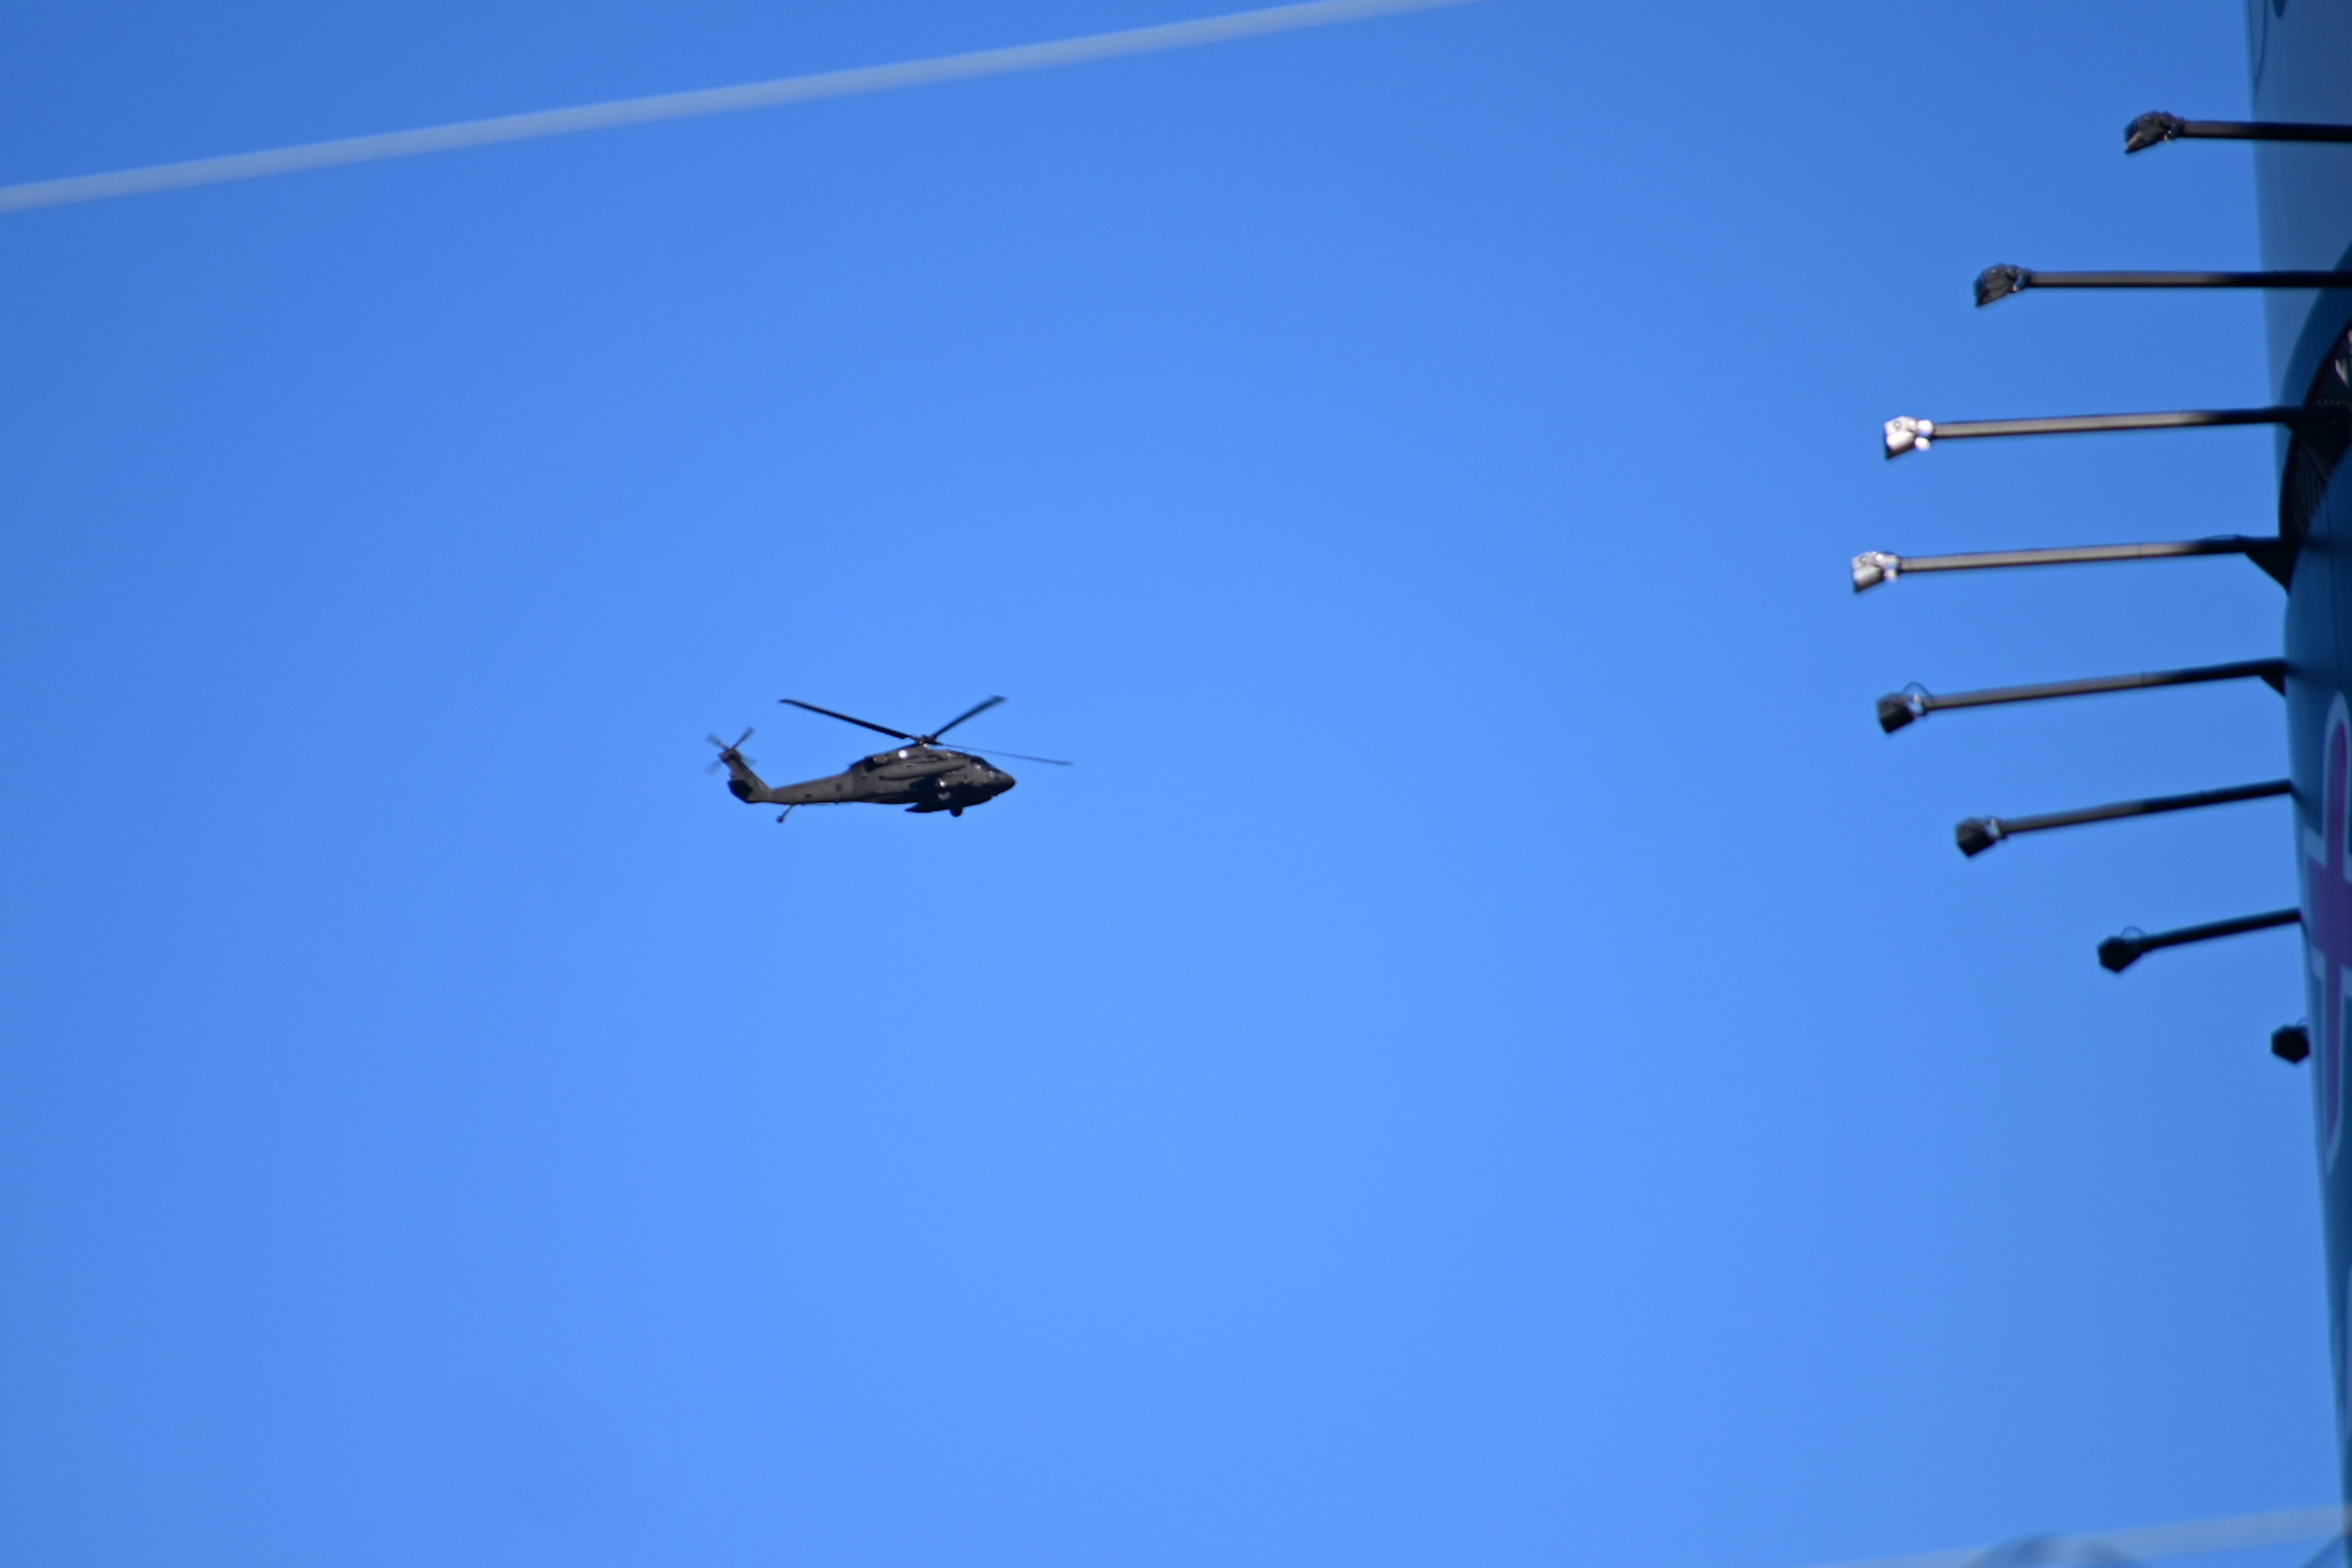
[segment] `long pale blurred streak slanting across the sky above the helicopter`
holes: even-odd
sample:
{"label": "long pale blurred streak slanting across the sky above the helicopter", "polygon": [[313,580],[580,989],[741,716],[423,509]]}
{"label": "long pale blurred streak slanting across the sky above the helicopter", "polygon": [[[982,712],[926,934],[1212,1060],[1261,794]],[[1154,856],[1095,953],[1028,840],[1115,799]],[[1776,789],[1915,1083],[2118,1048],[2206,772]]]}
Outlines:
{"label": "long pale blurred streak slanting across the sky above the helicopter", "polygon": [[1472,2],[1475,0],[1312,0],[1310,5],[1277,5],[1261,12],[1202,16],[1200,21],[1171,21],[1157,28],[1129,28],[1124,33],[1058,38],[1042,45],[1016,45],[1011,49],[974,49],[971,54],[910,59],[896,66],[821,71],[816,75],[786,75],[771,82],[743,82],[741,87],[666,92],[652,99],[581,103],[579,108],[543,108],[529,115],[461,120],[456,125],[428,125],[423,129],[386,132],[381,136],[310,141],[299,148],[273,148],[268,153],[235,153],[228,158],[195,158],[188,162],[167,162],[146,169],[120,169],[115,174],[45,179],[24,186],[0,186],[0,214],[28,212],[33,207],[66,207],[73,202],[111,202],[118,195],[153,195],[155,190],[219,186],[233,179],[266,179],[270,174],[334,169],[348,162],[454,153],[459,148],[480,148],[496,141],[572,136],[574,132],[602,132],[616,125],[689,120],[694,115],[731,115],[743,108],[776,108],[781,103],[847,99],[861,92],[898,92],[901,87],[964,82],[981,75],[1009,75],[1014,71],[1084,66],[1089,61],[1120,59],[1124,54],[1192,49],[1197,45],[1221,45],[1235,38],[1265,38],[1268,33],[1296,33],[1298,28],[1324,28],[1341,21],[1369,21],[1374,16],[1395,16],[1399,12],[1428,12],[1446,5]]}

